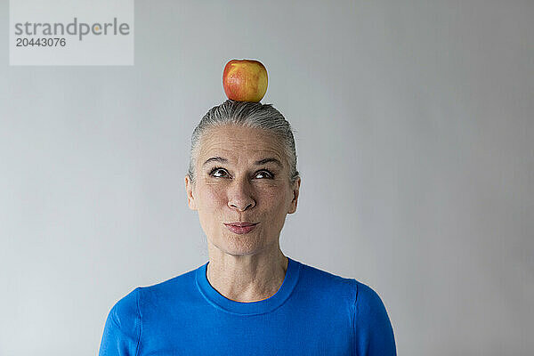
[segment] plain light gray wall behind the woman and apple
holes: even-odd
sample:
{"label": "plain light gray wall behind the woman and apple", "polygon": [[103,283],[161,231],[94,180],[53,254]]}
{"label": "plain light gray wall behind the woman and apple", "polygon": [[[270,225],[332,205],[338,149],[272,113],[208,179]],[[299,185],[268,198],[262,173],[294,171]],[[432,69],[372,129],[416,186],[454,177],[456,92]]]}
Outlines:
{"label": "plain light gray wall behind the woman and apple", "polygon": [[399,354],[534,352],[534,2],[137,1],[134,67],[9,67],[0,4],[2,356],[95,354],[207,261],[183,175],[234,58],[296,130],[286,255],[373,287]]}

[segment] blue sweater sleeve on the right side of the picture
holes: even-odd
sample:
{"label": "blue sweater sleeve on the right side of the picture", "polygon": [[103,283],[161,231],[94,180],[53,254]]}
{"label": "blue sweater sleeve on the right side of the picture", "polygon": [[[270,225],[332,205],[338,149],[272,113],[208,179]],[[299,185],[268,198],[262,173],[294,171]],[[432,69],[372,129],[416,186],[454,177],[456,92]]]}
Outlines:
{"label": "blue sweater sleeve on the right side of the picture", "polygon": [[357,356],[396,356],[391,321],[380,296],[356,281],[354,348]]}

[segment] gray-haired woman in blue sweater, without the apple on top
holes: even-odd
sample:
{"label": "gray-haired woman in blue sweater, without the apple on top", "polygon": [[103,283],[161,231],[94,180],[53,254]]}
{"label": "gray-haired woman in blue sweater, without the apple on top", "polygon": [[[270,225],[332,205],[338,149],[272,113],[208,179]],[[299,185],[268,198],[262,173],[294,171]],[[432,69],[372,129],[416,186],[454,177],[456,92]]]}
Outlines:
{"label": "gray-haired woman in blue sweater, without the apple on top", "polygon": [[210,109],[185,176],[209,261],[120,299],[100,355],[396,355],[373,289],[280,250],[300,182],[291,126],[271,104]]}

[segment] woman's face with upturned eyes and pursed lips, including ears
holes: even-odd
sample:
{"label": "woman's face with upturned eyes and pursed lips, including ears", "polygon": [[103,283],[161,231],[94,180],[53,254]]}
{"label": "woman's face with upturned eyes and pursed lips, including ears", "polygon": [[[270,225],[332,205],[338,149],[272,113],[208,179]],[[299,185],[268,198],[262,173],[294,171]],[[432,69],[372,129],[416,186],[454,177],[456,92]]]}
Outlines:
{"label": "woman's face with upturned eyes and pursed lips, including ears", "polygon": [[[185,186],[208,243],[230,255],[278,249],[300,188],[300,178],[290,186],[279,140],[261,129],[224,125],[207,131],[199,143],[196,182],[193,186],[186,176]],[[239,231],[230,223],[255,227]]]}

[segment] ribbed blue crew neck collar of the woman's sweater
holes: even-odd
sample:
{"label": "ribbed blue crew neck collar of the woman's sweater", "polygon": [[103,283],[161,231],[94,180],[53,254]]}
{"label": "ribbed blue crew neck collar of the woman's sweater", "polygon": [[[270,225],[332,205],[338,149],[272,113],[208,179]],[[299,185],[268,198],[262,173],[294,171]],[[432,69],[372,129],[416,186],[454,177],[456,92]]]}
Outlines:
{"label": "ribbed blue crew neck collar of the woman's sweater", "polygon": [[295,288],[296,282],[298,281],[298,275],[301,269],[301,263],[298,263],[297,261],[287,257],[286,276],[284,277],[284,281],[279,287],[279,290],[267,299],[246,303],[232,301],[231,299],[228,299],[224,295],[217,292],[217,290],[212,287],[206,276],[208,263],[209,261],[197,269],[195,279],[200,293],[204,295],[206,300],[214,305],[215,308],[223,309],[223,311],[226,312],[243,315],[263,314],[265,312],[272,312],[278,308],[287,300],[289,295],[291,295],[291,292]]}

